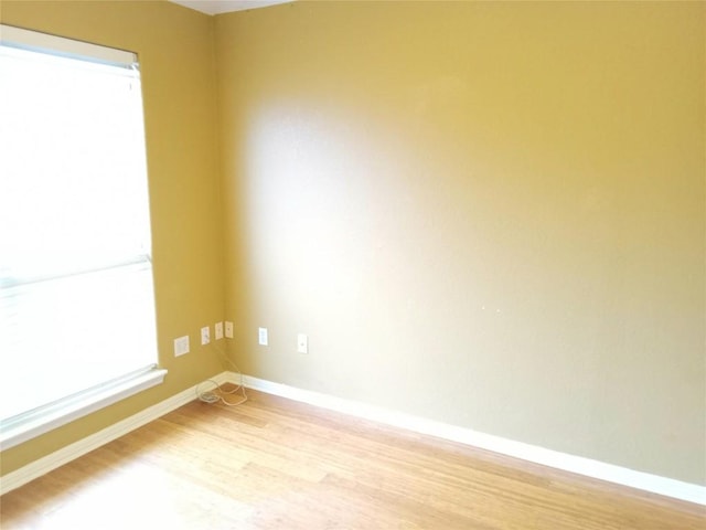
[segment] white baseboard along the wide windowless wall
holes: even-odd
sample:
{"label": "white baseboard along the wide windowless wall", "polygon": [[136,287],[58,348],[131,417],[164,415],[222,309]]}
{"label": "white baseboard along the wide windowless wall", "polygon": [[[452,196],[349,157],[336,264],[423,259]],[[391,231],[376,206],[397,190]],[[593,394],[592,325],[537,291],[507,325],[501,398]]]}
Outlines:
{"label": "white baseboard along the wide windowless wall", "polygon": [[[238,381],[234,373],[229,373],[232,382]],[[706,506],[706,487],[683,483],[672,478],[635,471],[625,467],[606,464],[590,458],[568,455],[557,451],[546,449],[535,445],[479,433],[470,428],[457,427],[441,422],[435,422],[409,414],[403,414],[387,409],[366,405],[356,401],[334,398],[328,394],[274,383],[249,375],[243,377],[245,386],[254,390],[280,395],[290,400],[309,403],[322,409],[342,412],[365,420],[405,428],[420,434],[436,436],[452,442],[492,451],[502,455],[521,458],[556,469],[575,473],[591,478],[598,478],[613,484],[672,497],[687,502]]]}

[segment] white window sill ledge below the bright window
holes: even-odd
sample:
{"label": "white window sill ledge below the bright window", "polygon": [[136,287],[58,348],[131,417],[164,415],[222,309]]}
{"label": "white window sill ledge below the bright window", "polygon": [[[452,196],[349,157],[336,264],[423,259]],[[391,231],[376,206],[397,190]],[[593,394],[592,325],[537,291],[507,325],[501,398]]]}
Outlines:
{"label": "white window sill ledge below the bright window", "polygon": [[28,439],[61,427],[74,420],[104,409],[113,403],[162,383],[167,370],[151,368],[140,371],[93,391],[83,392],[56,404],[39,409],[22,418],[0,423],[0,451],[14,447]]}

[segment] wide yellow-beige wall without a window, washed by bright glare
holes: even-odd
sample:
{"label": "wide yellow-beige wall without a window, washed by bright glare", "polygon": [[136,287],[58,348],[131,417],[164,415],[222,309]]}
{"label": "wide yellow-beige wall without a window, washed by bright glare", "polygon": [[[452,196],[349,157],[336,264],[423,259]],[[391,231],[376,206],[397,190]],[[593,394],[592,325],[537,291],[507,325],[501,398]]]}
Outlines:
{"label": "wide yellow-beige wall without a window, washed by bright glare", "polygon": [[706,484],[704,26],[697,2],[217,17],[244,371]]}

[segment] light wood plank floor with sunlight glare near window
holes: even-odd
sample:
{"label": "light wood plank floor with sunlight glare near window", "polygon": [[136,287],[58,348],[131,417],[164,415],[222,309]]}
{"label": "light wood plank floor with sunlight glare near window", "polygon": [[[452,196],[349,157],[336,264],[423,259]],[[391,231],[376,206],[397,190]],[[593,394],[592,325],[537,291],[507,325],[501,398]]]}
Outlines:
{"label": "light wood plank floor with sunlight glare near window", "polygon": [[698,529],[704,507],[249,391],[0,498],[11,529]]}

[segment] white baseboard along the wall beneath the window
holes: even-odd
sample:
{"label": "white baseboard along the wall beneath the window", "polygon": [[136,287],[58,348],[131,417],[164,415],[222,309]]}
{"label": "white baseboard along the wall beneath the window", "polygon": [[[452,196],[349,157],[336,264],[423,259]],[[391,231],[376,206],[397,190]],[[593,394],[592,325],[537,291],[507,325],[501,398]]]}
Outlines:
{"label": "white baseboard along the wall beneath the window", "polygon": [[[218,383],[224,383],[232,380],[233,377],[228,377],[226,372],[223,372],[212,379]],[[35,478],[39,478],[42,475],[45,475],[49,471],[107,444],[108,442],[113,442],[114,439],[128,434],[130,431],[135,431],[136,428],[141,427],[142,425],[146,425],[195,399],[196,386],[192,386],[191,389],[186,389],[179,394],[172,395],[171,398],[157,403],[156,405],[149,406],[130,417],[126,417],[103,431],[98,431],[90,436],[86,436],[78,442],[67,445],[66,447],[62,447],[61,449],[34,460],[20,469],[8,473],[0,477],[0,495],[4,495],[8,491],[17,489],[30,480],[34,480]]]}

